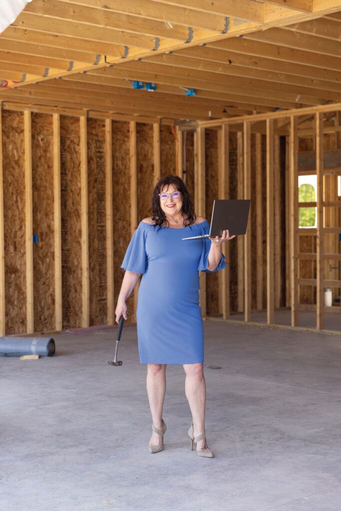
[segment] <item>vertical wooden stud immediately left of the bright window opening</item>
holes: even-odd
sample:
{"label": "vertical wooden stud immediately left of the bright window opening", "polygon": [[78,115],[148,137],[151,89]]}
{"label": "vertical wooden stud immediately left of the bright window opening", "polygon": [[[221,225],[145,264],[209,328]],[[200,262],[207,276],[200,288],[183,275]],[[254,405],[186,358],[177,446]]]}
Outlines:
{"label": "vertical wooden stud immediately left of the bright window opening", "polygon": [[298,226],[299,226],[299,181],[298,181],[298,136],[297,117],[290,118],[290,282],[291,282],[291,326],[297,327],[299,285],[298,285]]}

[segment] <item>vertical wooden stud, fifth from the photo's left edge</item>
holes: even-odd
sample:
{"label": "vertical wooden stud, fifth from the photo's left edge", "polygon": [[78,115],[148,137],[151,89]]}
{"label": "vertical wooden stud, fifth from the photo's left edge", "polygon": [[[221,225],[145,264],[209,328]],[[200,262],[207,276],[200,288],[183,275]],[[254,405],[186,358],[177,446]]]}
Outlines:
{"label": "vertical wooden stud, fifth from the photo's left edge", "polygon": [[105,227],[107,322],[115,324],[115,283],[113,273],[113,203],[112,203],[112,121],[105,120]]}

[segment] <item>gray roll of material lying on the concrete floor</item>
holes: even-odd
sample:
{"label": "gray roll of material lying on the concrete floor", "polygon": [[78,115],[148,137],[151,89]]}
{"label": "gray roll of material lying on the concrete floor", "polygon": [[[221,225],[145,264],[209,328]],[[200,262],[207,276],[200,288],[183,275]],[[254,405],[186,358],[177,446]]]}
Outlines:
{"label": "gray roll of material lying on the concrete floor", "polygon": [[55,341],[50,337],[0,337],[0,357],[52,357],[55,350]]}

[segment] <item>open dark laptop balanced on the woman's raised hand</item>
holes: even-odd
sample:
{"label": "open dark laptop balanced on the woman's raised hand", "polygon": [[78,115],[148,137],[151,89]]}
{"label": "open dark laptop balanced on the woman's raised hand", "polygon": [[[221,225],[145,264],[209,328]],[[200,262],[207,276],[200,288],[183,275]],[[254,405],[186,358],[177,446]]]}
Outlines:
{"label": "open dark laptop balanced on the woman's raised hand", "polygon": [[250,211],[249,199],[215,200],[211,219],[210,234],[191,236],[183,240],[196,240],[198,238],[215,238],[222,236],[222,231],[229,229],[230,236],[240,236],[246,233],[248,213]]}

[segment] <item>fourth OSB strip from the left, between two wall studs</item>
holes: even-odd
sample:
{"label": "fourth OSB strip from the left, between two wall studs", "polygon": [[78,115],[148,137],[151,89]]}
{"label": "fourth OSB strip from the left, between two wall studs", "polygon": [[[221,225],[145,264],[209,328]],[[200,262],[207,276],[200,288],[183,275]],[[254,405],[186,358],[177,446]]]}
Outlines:
{"label": "fourth OSB strip from the left, between two wall studs", "polygon": [[89,204],[89,323],[107,323],[105,121],[87,121]]}

